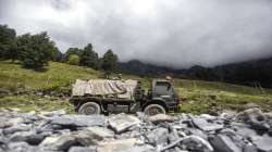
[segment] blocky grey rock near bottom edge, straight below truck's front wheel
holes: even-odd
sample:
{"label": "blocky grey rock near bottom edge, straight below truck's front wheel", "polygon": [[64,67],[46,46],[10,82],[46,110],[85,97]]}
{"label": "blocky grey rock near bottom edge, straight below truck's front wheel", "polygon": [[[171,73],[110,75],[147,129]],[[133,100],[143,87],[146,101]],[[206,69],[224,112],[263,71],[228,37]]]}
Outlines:
{"label": "blocky grey rock near bottom edge, straight below truck's front wheel", "polygon": [[169,130],[166,128],[157,128],[147,135],[148,142],[152,145],[160,145],[168,142]]}

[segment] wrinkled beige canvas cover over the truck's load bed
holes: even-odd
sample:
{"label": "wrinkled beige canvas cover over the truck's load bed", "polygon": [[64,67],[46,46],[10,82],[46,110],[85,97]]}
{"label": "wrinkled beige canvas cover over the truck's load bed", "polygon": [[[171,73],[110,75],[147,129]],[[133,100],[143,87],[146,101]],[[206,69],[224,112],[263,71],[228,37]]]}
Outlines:
{"label": "wrinkled beige canvas cover over the truck's load bed", "polygon": [[133,98],[137,80],[77,79],[73,85],[72,96],[107,96],[118,94],[118,98]]}

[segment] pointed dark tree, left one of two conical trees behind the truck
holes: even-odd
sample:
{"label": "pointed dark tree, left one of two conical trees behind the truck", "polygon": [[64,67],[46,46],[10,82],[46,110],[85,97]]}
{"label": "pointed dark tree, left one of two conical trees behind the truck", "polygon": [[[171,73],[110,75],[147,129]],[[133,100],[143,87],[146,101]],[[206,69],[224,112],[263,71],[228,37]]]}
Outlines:
{"label": "pointed dark tree, left one of two conical trees behind the truck", "polygon": [[84,50],[83,54],[81,55],[79,65],[88,66],[95,69],[99,68],[99,60],[98,54],[92,50],[91,43],[88,43]]}

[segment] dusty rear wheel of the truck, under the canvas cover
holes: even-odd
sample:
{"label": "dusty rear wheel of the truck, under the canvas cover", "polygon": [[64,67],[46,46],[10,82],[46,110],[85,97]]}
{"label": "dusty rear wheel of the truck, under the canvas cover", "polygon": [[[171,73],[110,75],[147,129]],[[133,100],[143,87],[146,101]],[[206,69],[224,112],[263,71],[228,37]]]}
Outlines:
{"label": "dusty rear wheel of the truck, under the canvas cover", "polygon": [[78,114],[85,114],[85,115],[92,115],[92,114],[100,114],[101,109],[99,104],[96,102],[87,102],[81,105],[78,110]]}

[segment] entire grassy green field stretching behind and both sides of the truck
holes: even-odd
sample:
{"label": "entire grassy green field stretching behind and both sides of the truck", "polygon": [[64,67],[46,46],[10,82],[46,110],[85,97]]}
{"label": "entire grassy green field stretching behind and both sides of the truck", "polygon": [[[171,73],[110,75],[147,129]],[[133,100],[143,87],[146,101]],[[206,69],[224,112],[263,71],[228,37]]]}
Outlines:
{"label": "entire grassy green field stretching behind and both sides of the truck", "polygon": [[[69,92],[75,79],[102,78],[103,73],[87,67],[50,63],[46,72],[22,68],[20,64],[0,61],[0,89],[15,91]],[[123,78],[141,80],[147,88],[151,78],[124,75]],[[184,103],[181,112],[209,113],[217,110],[244,110],[247,103],[256,103],[264,110],[272,110],[272,90],[256,89],[224,83],[175,79],[175,87]],[[51,111],[65,109],[72,113],[67,99],[36,97],[34,94],[2,96],[1,107],[18,107],[23,112],[33,110]]]}

